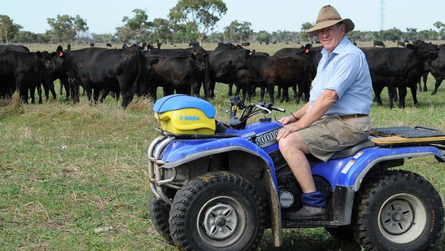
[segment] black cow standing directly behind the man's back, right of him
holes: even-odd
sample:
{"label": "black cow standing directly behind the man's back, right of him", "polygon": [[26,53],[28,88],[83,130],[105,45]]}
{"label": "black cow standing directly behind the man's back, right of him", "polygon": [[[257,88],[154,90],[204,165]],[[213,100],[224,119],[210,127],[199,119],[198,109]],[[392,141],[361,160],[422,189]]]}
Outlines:
{"label": "black cow standing directly behind the man's back, right of him", "polygon": [[399,89],[399,107],[405,108],[406,88],[411,88],[414,104],[416,84],[424,73],[424,64],[437,58],[437,45],[416,41],[406,48],[361,48],[366,55],[370,69],[372,88],[377,104],[382,105],[380,94],[387,86],[390,108],[393,107],[394,90]]}

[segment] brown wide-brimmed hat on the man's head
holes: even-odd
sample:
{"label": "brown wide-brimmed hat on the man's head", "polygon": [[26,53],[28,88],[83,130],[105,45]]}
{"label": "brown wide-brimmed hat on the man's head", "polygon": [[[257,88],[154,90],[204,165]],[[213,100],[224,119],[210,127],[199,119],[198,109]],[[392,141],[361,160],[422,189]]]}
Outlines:
{"label": "brown wide-brimmed hat on the man's head", "polygon": [[317,21],[314,27],[307,29],[306,32],[311,36],[317,36],[320,29],[335,25],[336,23],[344,23],[346,25],[345,33],[351,32],[355,25],[351,19],[342,19],[338,11],[331,5],[323,6],[318,12]]}

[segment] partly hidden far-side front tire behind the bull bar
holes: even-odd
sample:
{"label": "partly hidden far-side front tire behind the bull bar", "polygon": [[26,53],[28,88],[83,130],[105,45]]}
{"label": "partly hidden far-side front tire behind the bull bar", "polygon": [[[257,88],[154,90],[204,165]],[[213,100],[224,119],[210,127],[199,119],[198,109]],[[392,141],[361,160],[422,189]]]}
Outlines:
{"label": "partly hidden far-side front tire behind the bull bar", "polygon": [[170,205],[162,200],[157,200],[155,196],[151,196],[149,198],[149,211],[151,222],[153,222],[156,231],[168,242],[168,244],[175,245],[170,236],[170,226],[168,226]]}

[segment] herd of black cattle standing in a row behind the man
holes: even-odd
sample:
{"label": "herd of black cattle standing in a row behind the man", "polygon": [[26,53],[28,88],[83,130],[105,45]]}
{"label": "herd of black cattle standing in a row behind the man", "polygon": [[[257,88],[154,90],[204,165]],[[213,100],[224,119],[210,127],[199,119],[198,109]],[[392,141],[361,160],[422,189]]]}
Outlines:
{"label": "herd of black cattle standing in a row behind the man", "polygon": [[[414,104],[417,104],[417,84],[422,76],[425,81],[428,73],[435,77],[435,89],[431,94],[437,92],[445,77],[445,45],[417,40],[403,47],[385,48],[379,42],[374,41],[374,47],[361,48],[368,60],[372,88],[379,105],[382,105],[380,95],[385,86],[390,95],[390,108],[397,96],[399,107],[405,107],[407,88],[411,89]],[[18,91],[25,103],[29,93],[34,102],[37,89],[41,103],[40,86],[43,86],[46,99],[49,99],[49,92],[55,99],[53,82],[59,79],[67,99],[79,101],[79,86],[82,86],[89,101],[103,101],[108,93],[114,92],[117,99],[122,97],[124,108],[135,93],[156,99],[158,87],[163,88],[164,95],[175,92],[199,95],[203,87],[204,97],[212,98],[216,82],[229,84],[229,95],[235,84],[236,94],[242,91],[243,98],[249,101],[259,87],[260,100],[267,90],[273,102],[275,86],[278,86],[280,101],[289,101],[288,88],[291,87],[298,103],[303,94],[305,101],[309,100],[311,81],[316,75],[322,49],[308,44],[280,49],[269,56],[230,43],[220,43],[214,51],[205,51],[196,44],[187,49],[151,47],[144,50],[145,46],[105,49],[91,45],[79,50],[71,50],[69,46],[64,50],[59,46],[49,53],[29,52],[23,45],[0,45],[0,98]],[[423,91],[427,91],[425,85]]]}

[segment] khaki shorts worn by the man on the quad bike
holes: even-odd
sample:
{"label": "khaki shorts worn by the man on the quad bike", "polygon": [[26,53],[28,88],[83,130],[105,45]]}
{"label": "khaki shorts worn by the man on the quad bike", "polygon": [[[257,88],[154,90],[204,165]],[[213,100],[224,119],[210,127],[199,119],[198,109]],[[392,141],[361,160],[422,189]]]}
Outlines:
{"label": "khaki shorts worn by the man on the quad bike", "polygon": [[370,130],[368,116],[342,119],[338,115],[332,115],[322,117],[297,133],[305,141],[309,152],[326,162],[335,152],[367,139]]}

